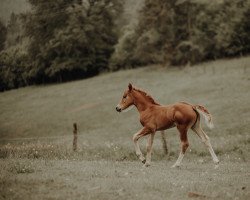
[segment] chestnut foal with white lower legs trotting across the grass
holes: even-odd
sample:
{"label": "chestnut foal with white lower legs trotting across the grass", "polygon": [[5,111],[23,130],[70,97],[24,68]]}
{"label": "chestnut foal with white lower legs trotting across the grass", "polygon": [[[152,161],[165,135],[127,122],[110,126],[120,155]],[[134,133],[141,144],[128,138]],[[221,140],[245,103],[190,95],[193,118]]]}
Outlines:
{"label": "chestnut foal with white lower legs trotting across the grass", "polygon": [[[187,132],[191,128],[208,148],[215,164],[219,159],[214,153],[209,137],[201,128],[200,115],[205,118],[209,128],[213,127],[212,116],[208,110],[200,105],[191,105],[185,102],[175,103],[172,105],[160,105],[154,101],[146,92],[135,89],[131,84],[125,90],[120,103],[116,110],[121,112],[134,105],[140,113],[140,122],[143,128],[133,136],[136,155],[147,167],[151,162],[152,145],[156,131],[163,131],[172,127],[177,127],[180,133],[181,150],[179,157],[172,167],[179,167],[184,154],[189,146]],[[138,140],[139,138],[149,135],[147,141],[147,155],[144,158]]]}

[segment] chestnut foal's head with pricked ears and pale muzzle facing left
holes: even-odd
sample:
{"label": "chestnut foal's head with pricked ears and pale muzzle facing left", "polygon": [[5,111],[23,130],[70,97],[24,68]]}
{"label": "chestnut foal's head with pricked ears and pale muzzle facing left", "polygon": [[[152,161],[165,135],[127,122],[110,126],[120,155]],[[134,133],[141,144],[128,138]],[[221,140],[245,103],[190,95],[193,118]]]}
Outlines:
{"label": "chestnut foal's head with pricked ears and pale muzzle facing left", "polygon": [[134,99],[133,99],[133,96],[132,96],[132,90],[133,90],[133,87],[132,87],[131,83],[129,83],[128,89],[125,90],[121,101],[116,106],[117,112],[121,112],[121,111],[127,109],[129,106],[134,104]]}

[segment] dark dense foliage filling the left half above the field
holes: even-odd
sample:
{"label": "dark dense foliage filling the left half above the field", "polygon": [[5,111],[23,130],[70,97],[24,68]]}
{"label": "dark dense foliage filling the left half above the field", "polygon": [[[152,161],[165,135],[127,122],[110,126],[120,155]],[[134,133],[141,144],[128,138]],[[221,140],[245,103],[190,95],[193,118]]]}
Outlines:
{"label": "dark dense foliage filling the left half above the field", "polygon": [[[29,3],[32,12],[13,15],[8,25],[8,48],[0,54],[1,90],[86,78],[108,69],[118,37],[115,22],[121,1]],[[20,23],[14,18],[22,21],[22,30],[15,33],[12,30],[20,28]],[[28,44],[23,42],[27,38]]]}

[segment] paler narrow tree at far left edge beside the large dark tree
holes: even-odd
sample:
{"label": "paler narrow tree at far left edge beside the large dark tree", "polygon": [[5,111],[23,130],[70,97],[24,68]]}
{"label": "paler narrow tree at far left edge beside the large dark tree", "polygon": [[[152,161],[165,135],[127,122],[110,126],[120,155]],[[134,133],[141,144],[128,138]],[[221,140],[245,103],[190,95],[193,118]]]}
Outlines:
{"label": "paler narrow tree at far left edge beside the large dark tree", "polygon": [[4,49],[0,52],[0,91],[27,85],[25,70],[27,41],[24,41],[21,15],[12,13],[6,27]]}

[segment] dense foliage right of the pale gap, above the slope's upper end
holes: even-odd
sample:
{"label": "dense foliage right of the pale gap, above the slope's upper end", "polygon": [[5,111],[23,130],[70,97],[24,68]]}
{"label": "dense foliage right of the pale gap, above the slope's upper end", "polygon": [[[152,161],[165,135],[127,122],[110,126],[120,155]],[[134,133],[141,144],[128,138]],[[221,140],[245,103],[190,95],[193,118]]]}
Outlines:
{"label": "dense foliage right of the pale gap, above the slope's upper end", "polygon": [[248,54],[249,14],[249,0],[145,0],[138,26],[122,36],[111,67],[186,65]]}

